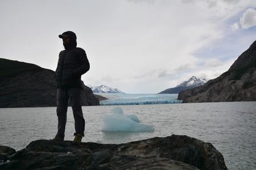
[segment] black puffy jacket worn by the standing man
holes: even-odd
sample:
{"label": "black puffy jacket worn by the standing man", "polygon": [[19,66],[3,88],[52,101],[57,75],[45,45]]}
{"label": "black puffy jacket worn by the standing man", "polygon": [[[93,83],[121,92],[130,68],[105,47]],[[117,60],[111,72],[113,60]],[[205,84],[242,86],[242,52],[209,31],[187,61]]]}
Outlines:
{"label": "black puffy jacket worn by the standing man", "polygon": [[54,76],[57,88],[81,87],[81,76],[89,69],[90,63],[82,48],[61,51]]}

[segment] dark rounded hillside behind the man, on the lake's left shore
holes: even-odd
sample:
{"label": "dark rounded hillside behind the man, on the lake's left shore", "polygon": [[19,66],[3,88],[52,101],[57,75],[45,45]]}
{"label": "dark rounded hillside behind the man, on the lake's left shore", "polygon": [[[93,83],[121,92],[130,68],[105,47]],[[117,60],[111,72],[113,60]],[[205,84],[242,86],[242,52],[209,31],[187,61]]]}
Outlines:
{"label": "dark rounded hillside behind the man, on the lake's left shore", "polygon": [[[0,58],[0,70],[0,108],[56,106],[54,71],[4,58]],[[100,105],[84,84],[81,96],[82,106]]]}

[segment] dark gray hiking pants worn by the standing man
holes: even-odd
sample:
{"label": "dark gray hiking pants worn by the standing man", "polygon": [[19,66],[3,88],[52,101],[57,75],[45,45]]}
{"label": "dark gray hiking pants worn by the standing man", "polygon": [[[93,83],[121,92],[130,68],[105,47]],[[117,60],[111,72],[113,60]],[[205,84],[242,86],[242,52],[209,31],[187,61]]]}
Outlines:
{"label": "dark gray hiking pants worn by the standing man", "polygon": [[70,98],[73,117],[75,119],[75,130],[77,133],[85,136],[85,119],[83,118],[81,107],[81,88],[57,88],[57,116],[58,132],[56,136],[65,136],[65,127],[67,122],[67,103]]}

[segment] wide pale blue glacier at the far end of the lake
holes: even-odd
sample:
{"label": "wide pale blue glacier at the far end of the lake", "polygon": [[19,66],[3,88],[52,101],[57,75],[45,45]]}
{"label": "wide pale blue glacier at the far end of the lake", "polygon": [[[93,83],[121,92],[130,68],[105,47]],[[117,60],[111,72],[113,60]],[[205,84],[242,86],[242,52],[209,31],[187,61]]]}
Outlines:
{"label": "wide pale blue glacier at the far end of the lake", "polygon": [[[98,93],[95,93],[98,94]],[[178,94],[102,94],[109,98],[100,101],[100,105],[134,105],[134,104],[170,104],[182,103],[178,100]]]}

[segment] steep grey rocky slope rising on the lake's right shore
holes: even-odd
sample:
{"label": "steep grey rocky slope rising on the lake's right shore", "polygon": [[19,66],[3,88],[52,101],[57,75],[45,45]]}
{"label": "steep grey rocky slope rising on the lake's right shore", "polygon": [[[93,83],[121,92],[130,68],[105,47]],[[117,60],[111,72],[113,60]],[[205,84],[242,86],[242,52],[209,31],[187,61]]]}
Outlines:
{"label": "steep grey rocky slope rising on the lake's right shore", "polygon": [[256,41],[227,72],[204,86],[181,91],[178,99],[184,103],[256,101]]}

